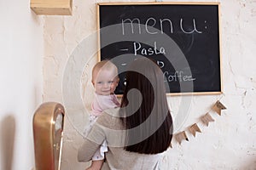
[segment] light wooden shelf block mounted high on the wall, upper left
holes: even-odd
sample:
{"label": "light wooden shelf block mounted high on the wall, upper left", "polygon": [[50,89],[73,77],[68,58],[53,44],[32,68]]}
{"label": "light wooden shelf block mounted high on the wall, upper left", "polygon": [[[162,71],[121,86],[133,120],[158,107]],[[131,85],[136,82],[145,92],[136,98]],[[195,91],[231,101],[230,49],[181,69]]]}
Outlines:
{"label": "light wooden shelf block mounted high on the wall, upper left", "polygon": [[31,0],[30,8],[36,14],[71,15],[73,0]]}

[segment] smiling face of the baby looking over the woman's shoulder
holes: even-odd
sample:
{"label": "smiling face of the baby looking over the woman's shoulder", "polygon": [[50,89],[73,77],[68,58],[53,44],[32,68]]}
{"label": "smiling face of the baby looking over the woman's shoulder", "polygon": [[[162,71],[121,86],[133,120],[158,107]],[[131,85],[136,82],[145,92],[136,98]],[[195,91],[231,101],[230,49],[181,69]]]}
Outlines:
{"label": "smiling face of the baby looking over the woman's shoulder", "polygon": [[118,78],[114,71],[101,70],[92,81],[96,94],[109,95],[113,94],[118,86]]}

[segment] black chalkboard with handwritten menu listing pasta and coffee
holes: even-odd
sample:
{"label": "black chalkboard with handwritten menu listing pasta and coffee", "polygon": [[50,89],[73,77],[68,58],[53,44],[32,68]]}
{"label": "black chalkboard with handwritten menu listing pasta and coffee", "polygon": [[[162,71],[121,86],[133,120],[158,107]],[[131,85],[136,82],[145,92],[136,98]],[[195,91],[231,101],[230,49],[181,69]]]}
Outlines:
{"label": "black chalkboard with handwritten menu listing pasta and coffee", "polygon": [[98,3],[99,59],[154,59],[168,94],[221,94],[219,3]]}

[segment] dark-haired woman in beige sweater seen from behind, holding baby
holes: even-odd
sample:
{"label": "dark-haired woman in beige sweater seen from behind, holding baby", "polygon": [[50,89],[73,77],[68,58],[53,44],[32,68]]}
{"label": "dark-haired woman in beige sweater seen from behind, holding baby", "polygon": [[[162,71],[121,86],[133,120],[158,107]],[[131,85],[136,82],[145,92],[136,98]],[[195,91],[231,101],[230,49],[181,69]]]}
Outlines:
{"label": "dark-haired woman in beige sweater seen from behind, holding baby", "polygon": [[161,153],[172,140],[172,116],[163,73],[147,58],[131,63],[121,107],[104,111],[79,148],[79,161],[107,141],[110,169],[158,169]]}

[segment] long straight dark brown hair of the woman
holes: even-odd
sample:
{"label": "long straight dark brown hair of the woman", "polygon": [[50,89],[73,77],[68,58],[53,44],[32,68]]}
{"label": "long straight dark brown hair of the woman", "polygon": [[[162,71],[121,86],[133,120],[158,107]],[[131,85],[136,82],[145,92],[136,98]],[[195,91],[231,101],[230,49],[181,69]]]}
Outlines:
{"label": "long straight dark brown hair of the woman", "polygon": [[131,63],[120,116],[127,132],[125,150],[157,154],[171,144],[172,116],[163,72],[152,60],[142,58]]}

